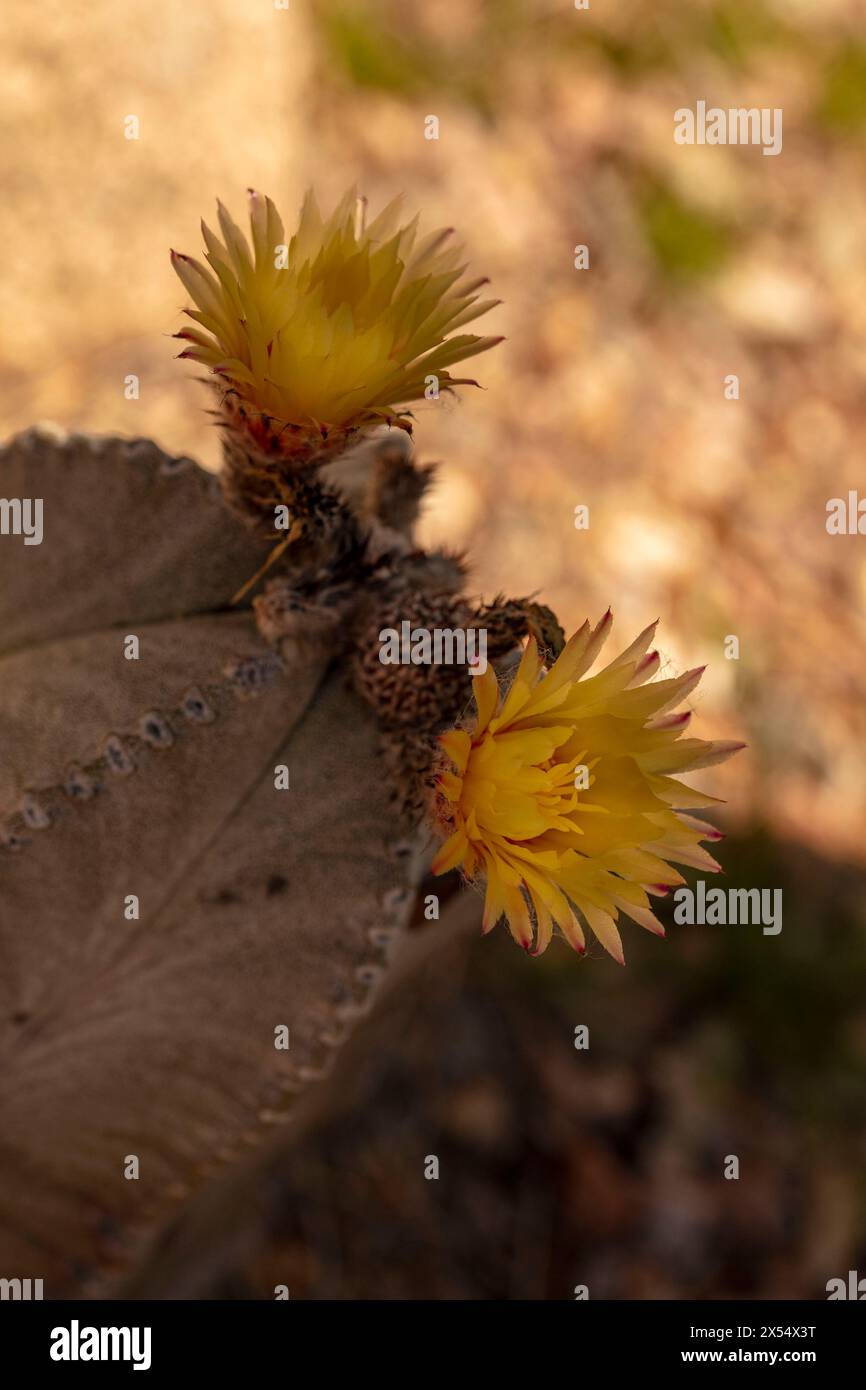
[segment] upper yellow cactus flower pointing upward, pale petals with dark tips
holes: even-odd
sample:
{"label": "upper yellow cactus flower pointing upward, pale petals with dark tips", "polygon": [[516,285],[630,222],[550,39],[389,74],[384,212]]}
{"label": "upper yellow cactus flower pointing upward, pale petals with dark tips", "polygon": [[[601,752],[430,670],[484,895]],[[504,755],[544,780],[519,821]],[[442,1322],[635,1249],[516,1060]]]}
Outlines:
{"label": "upper yellow cactus flower pointing upward, pale petals with dark tips", "polygon": [[346,193],[327,220],[309,192],[286,242],[270,197],[250,192],[252,247],[222,204],[220,240],[202,224],[210,270],[171,253],[196,309],[177,336],[215,374],[227,411],[267,452],[286,456],[322,439],[392,420],[438,389],[467,385],[449,367],[500,338],[453,334],[499,300],[485,279],[466,281],[452,229],[418,239],[395,199],[366,225],[364,203]]}

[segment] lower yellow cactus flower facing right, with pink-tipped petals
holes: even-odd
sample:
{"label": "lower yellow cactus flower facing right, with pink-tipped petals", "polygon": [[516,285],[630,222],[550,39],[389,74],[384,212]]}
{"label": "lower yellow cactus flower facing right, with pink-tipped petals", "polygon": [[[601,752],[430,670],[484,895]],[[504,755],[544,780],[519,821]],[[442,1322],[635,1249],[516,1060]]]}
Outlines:
{"label": "lower yellow cactus flower facing right, with pink-tipped petals", "polygon": [[530,638],[505,698],[492,667],[474,678],[474,727],[441,737],[455,771],[438,778],[450,834],[434,872],[487,878],[484,931],[505,916],[538,955],[556,926],[582,954],[585,923],[623,965],[620,912],[664,935],[649,898],[685,881],[673,865],[719,869],[701,841],[720,831],[684,815],[716,798],[673,774],[744,745],[681,738],[691,714],[671,710],[703,669],[645,684],[659,670],[655,623],[582,678],[610,626],[610,612],[595,628],[584,623],[546,674]]}

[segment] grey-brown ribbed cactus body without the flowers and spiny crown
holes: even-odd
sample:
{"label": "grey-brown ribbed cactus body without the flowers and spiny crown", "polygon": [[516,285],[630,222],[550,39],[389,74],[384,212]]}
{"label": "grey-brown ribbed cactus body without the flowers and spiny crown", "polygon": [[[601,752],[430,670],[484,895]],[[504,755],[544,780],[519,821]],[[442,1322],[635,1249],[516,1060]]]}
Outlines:
{"label": "grey-brown ribbed cactus body without the flowers and spiny crown", "polygon": [[4,546],[0,660],[0,1265],[50,1295],[104,1289],[327,1069],[413,897],[373,719],[324,642],[225,610],[256,548],[171,471],[0,456],[68,523]]}

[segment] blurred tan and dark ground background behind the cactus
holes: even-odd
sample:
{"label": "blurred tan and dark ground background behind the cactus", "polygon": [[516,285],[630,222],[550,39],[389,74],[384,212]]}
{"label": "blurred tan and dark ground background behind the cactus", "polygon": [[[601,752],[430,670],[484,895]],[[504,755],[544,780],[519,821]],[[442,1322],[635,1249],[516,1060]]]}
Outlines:
{"label": "blurred tan and dark ground background behind the cactus", "polygon": [[[6,0],[0,435],[215,467],[168,247],[199,254],[247,185],[286,227],[309,183],[405,192],[507,339],[484,389],[416,411],[424,541],[487,598],[537,591],[567,628],[610,603],[621,645],[660,616],[666,667],[709,663],[696,733],[749,744],[701,783],[724,883],[783,888],[784,930],[634,927],[626,970],[450,947],[199,1291],[824,1297],[866,1272],[866,541],[826,532],[863,485],[866,6],[278,4]],[[781,154],[676,145],[698,100],[781,107]]]}

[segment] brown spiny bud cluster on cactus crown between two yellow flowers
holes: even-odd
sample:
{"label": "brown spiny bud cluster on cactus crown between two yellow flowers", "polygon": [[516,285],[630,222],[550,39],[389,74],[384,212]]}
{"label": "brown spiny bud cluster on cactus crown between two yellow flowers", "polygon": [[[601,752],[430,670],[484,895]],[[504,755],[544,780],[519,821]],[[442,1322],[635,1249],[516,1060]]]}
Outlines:
{"label": "brown spiny bud cluster on cactus crown between two yellow flowers", "polygon": [[[243,449],[249,446],[239,439],[227,441],[225,485],[235,507],[264,534],[277,493],[268,498],[261,460],[247,452],[245,461]],[[496,662],[527,635],[552,656],[563,645],[549,609],[502,596],[478,605],[466,596],[460,556],[414,545],[420,503],[434,477],[431,466],[414,463],[409,435],[395,430],[285,473],[281,486],[295,525],[253,600],[268,641],[324,639],[335,659],[348,655],[353,684],[379,721],[395,796],[413,821],[430,805],[436,737],[470,705],[471,670],[384,664],[382,631],[403,623],[428,631],[484,628],[488,660]]]}

